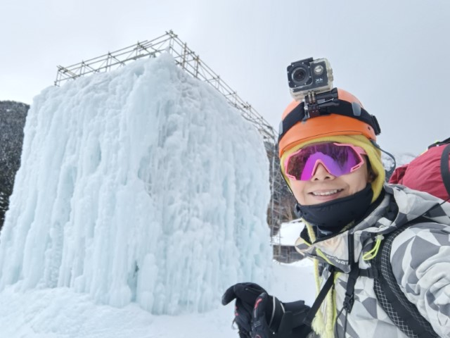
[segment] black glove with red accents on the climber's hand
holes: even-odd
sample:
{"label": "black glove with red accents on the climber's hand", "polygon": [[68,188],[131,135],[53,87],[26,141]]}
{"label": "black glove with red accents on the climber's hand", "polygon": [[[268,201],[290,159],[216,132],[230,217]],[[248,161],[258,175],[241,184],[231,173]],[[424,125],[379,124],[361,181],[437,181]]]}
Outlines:
{"label": "black glove with red accents on the climber's hand", "polygon": [[311,327],[303,325],[309,311],[304,301],[281,303],[254,283],[229,287],[222,296],[222,304],[233,299],[236,299],[234,322],[240,338],[302,338],[311,332]]}

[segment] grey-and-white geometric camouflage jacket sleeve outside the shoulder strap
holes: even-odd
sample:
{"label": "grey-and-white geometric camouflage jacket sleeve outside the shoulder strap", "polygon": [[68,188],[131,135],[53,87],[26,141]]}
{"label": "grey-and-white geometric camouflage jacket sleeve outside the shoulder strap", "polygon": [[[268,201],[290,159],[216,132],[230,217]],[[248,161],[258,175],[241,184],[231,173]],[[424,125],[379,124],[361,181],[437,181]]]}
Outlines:
{"label": "grey-and-white geometric camouflage jacket sleeve outside the shoulder strap", "polygon": [[406,298],[441,337],[450,337],[450,226],[419,223],[392,243],[391,265]]}

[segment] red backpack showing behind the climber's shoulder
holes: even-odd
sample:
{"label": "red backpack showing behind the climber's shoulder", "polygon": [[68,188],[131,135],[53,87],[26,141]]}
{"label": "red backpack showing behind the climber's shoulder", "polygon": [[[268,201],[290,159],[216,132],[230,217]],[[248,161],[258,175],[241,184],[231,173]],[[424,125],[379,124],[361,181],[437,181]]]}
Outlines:
{"label": "red backpack showing behind the climber's shoulder", "polygon": [[396,168],[389,182],[450,199],[449,153],[450,137],[432,144],[425,153]]}

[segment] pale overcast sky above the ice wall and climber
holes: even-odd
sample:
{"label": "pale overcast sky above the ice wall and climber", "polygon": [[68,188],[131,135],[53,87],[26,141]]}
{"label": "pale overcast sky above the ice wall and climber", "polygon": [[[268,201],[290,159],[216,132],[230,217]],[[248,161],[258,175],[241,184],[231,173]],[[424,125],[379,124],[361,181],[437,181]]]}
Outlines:
{"label": "pale overcast sky above the ice wall and climber", "polygon": [[68,66],[173,30],[278,129],[286,66],[328,58],[388,151],[450,137],[450,1],[2,0],[0,100],[32,104]]}

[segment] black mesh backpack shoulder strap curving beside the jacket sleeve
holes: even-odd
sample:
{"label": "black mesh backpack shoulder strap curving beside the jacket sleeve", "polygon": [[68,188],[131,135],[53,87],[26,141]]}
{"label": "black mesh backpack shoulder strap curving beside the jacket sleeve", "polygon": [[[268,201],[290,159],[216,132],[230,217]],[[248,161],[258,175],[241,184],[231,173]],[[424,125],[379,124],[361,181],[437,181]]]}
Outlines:
{"label": "black mesh backpack shoulder strap curving beside the jacket sleeve", "polygon": [[378,302],[383,307],[392,322],[399,327],[408,337],[430,338],[439,337],[432,329],[432,326],[420,315],[416,305],[409,301],[404,292],[401,291],[397,280],[395,280],[390,263],[390,253],[392,242],[401,232],[404,232],[411,225],[430,222],[425,218],[418,218],[403,227],[385,235],[382,241],[380,251],[375,256],[375,267],[378,270],[378,276],[374,279],[373,289]]}

